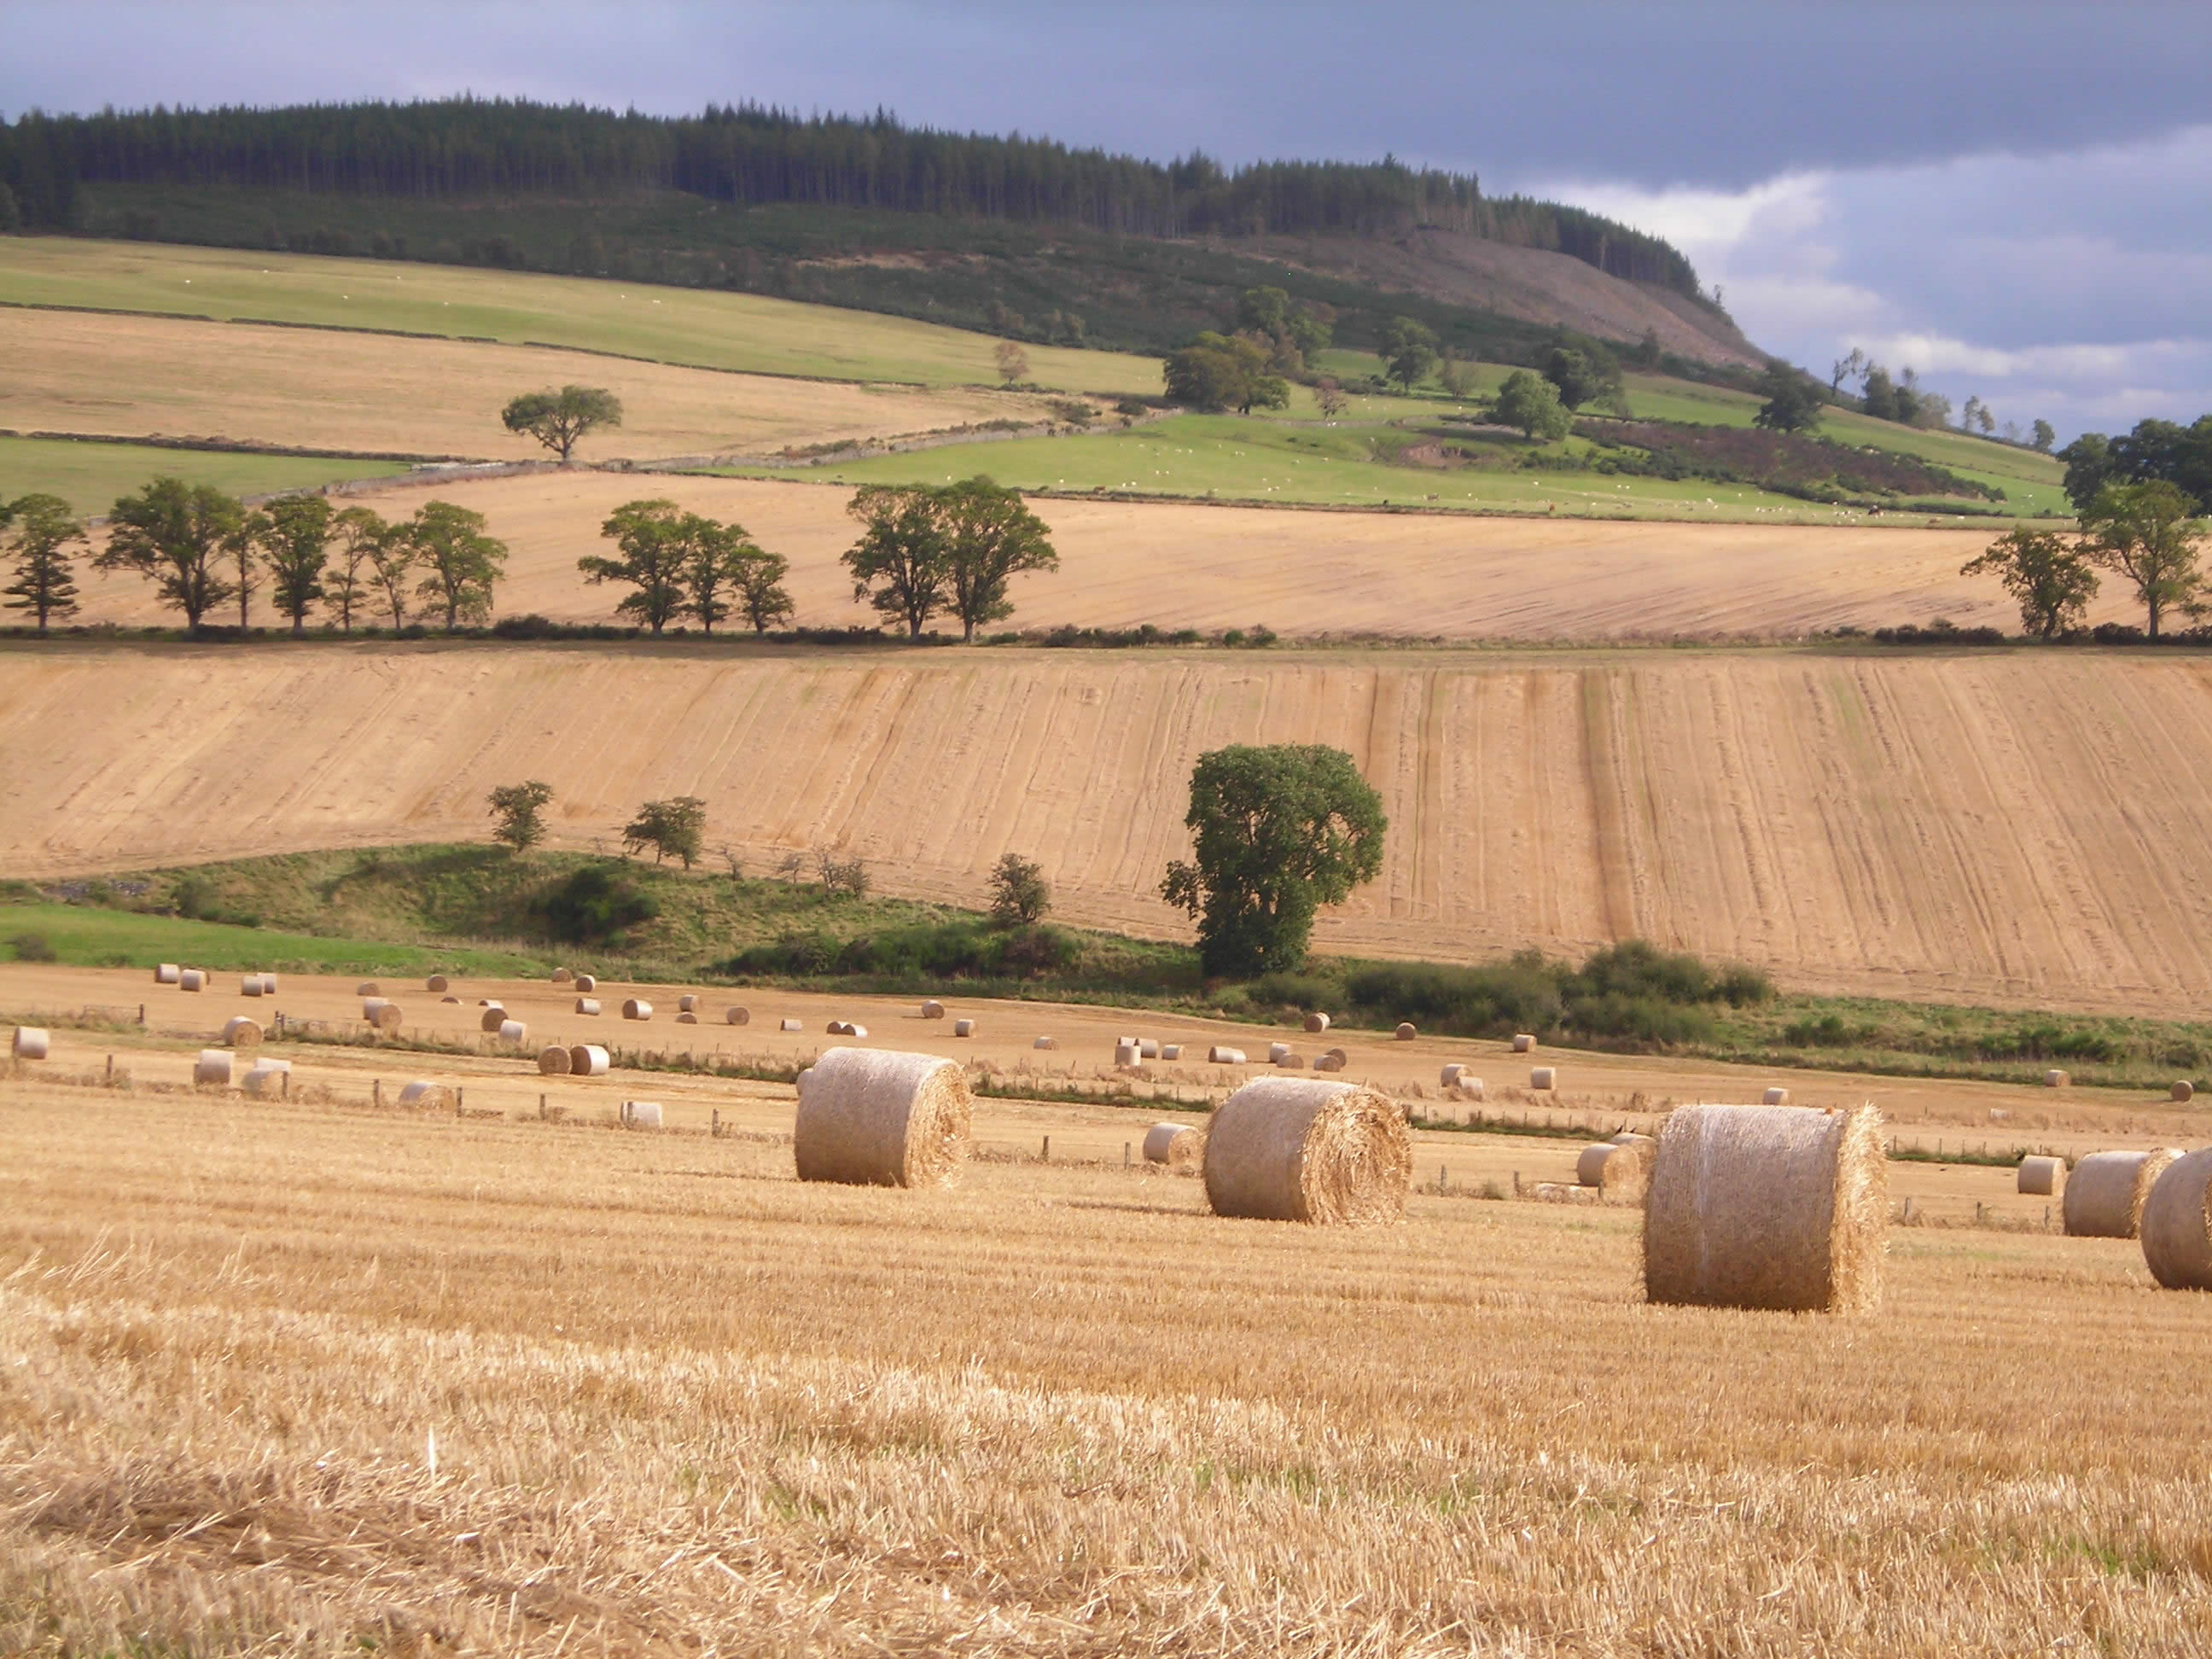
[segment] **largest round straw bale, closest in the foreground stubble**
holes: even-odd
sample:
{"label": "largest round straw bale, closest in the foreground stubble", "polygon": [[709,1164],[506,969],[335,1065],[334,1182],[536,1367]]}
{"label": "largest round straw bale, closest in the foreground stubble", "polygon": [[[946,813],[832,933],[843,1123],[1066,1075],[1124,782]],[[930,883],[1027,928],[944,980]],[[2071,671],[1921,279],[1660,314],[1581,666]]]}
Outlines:
{"label": "largest round straw bale, closest in the foreground stubble", "polygon": [[1856,1314],[1882,1301],[1889,1164],[1874,1106],[1677,1106],[1644,1203],[1655,1303]]}

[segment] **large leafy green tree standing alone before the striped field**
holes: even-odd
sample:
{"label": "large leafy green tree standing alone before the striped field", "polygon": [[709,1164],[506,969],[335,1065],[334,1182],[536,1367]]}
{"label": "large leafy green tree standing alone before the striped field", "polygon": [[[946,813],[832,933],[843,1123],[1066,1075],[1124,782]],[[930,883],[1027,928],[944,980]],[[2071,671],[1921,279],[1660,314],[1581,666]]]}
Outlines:
{"label": "large leafy green tree standing alone before the striped field", "polygon": [[1314,914],[1383,869],[1383,796],[1352,757],[1321,743],[1201,754],[1183,816],[1194,863],[1168,865],[1161,898],[1199,918],[1217,978],[1294,969]]}

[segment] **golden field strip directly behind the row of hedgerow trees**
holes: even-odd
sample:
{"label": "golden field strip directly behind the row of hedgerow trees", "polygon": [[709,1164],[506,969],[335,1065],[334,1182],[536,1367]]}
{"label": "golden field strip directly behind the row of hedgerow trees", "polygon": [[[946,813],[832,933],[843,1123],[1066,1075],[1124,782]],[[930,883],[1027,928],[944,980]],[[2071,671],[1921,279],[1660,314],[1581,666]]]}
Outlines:
{"label": "golden field strip directly behind the row of hedgerow trees", "polygon": [[[489,347],[487,347],[489,349]],[[949,449],[947,456],[958,456]],[[949,462],[953,465],[953,462]],[[838,555],[858,533],[849,489],[734,478],[538,473],[436,484],[491,520],[509,544],[500,613],[613,622],[622,588],[584,586],[575,562],[606,553],[617,502],[668,495],[734,518],[790,557],[799,622],[874,624]],[[369,502],[409,513],[420,487]],[[1060,549],[1055,575],[1015,577],[1011,626],[1250,628],[1290,637],[1387,639],[1719,639],[1798,637],[1951,617],[2020,626],[1995,580],[1958,568],[1986,531],[1626,524],[1544,518],[1294,513],[1040,500]],[[2117,584],[2095,619],[2141,622]],[[84,582],[86,619],[157,624],[135,577]],[[938,624],[940,628],[947,624]]]}

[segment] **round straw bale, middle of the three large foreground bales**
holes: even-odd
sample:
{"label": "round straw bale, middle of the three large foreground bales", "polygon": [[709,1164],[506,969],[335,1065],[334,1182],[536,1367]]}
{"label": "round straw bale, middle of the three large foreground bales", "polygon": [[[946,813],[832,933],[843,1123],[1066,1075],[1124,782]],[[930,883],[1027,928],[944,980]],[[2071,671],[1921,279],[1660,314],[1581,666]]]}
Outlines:
{"label": "round straw bale, middle of the three large foreground bales", "polygon": [[1206,1201],[1265,1221],[1396,1221],[1413,1183],[1405,1115],[1363,1084],[1261,1077],[1206,1128]]}

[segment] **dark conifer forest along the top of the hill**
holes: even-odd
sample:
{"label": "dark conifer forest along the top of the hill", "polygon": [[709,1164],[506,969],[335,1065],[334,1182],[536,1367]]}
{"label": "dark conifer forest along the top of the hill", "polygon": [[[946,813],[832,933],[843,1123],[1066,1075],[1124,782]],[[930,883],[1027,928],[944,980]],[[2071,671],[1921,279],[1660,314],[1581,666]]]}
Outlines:
{"label": "dark conifer forest along the top of the hill", "polygon": [[1398,234],[1420,226],[1548,248],[1628,281],[1697,296],[1659,237],[1582,208],[1489,199],[1469,173],[1396,157],[1254,161],[1192,150],[1148,161],[1053,139],[945,133],[876,111],[810,115],[710,104],[699,115],[449,97],[411,104],[31,111],[0,122],[0,230],[75,223],[84,184],[493,197],[686,190],[732,204],[810,204],[1068,223],[1141,237]]}

